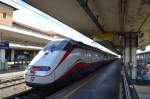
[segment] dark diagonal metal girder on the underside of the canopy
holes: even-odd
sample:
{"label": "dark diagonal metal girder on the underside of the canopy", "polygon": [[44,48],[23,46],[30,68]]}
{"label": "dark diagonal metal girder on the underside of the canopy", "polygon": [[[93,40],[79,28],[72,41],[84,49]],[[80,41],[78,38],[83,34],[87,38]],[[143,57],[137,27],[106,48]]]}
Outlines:
{"label": "dark diagonal metal girder on the underside of the canopy", "polygon": [[96,24],[96,26],[100,29],[101,32],[104,32],[102,25],[98,22],[98,19],[95,17],[91,9],[88,7],[88,0],[77,0],[80,6],[84,9],[84,11],[88,14],[88,16],[92,19],[92,21]]}

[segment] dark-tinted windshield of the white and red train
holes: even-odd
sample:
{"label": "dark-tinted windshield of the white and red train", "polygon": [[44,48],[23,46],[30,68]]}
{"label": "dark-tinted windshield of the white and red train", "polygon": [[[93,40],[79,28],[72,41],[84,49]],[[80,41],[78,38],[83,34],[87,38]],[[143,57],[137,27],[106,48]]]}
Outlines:
{"label": "dark-tinted windshield of the white and red train", "polygon": [[48,43],[44,47],[44,51],[50,50],[50,51],[56,51],[56,50],[65,50],[66,45],[68,44],[68,40],[64,41],[54,41],[53,43]]}

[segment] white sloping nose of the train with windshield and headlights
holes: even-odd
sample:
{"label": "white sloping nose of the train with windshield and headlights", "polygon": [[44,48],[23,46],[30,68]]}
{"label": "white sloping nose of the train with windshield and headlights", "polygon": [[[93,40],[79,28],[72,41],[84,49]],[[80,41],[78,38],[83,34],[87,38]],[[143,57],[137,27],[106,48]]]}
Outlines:
{"label": "white sloping nose of the train with windshield and headlights", "polygon": [[67,41],[48,43],[25,70],[25,82],[31,87],[49,86],[55,81],[55,68],[64,56]]}

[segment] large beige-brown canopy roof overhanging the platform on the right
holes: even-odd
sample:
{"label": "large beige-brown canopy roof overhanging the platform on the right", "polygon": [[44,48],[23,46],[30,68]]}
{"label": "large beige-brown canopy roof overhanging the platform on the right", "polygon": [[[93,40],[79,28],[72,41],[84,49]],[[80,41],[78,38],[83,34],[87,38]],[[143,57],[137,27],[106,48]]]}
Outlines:
{"label": "large beige-brown canopy roof overhanging the platform on the right", "polygon": [[140,35],[138,48],[150,43],[150,0],[25,0],[25,2],[115,52],[121,52],[123,49],[122,36],[126,33]]}

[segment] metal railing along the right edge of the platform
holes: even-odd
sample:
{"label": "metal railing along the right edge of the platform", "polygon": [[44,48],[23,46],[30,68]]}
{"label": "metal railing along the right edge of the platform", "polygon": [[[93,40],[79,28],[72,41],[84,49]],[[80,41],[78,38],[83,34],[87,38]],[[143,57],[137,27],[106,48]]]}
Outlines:
{"label": "metal railing along the right edge of the platform", "polygon": [[121,84],[120,84],[120,99],[139,99],[134,88],[133,82],[122,66]]}

